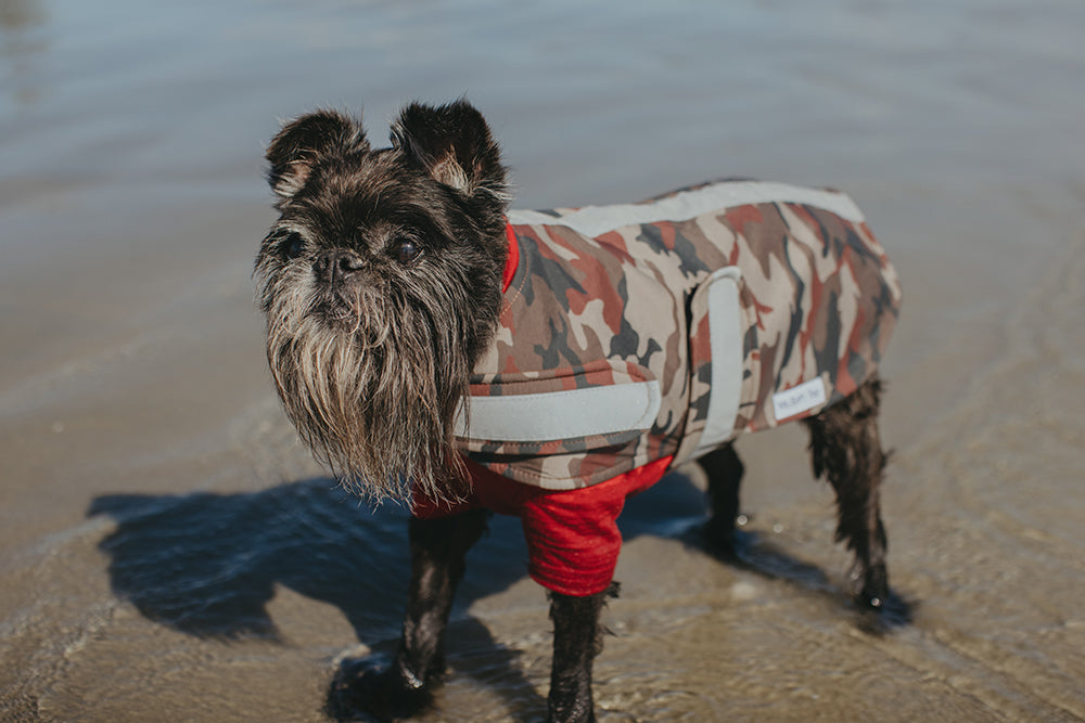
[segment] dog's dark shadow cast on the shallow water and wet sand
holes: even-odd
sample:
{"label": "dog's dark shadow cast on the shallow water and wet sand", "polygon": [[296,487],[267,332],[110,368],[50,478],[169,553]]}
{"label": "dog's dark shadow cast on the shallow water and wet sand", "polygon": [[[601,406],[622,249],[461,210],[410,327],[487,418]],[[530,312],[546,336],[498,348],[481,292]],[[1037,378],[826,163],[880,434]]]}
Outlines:
{"label": "dog's dark shadow cast on the shallow water and wet sand", "polygon": [[[397,505],[372,511],[317,478],[238,494],[103,495],[88,515],[117,526],[99,545],[113,592],[161,624],[200,637],[280,640],[267,606],[284,586],[339,608],[378,656],[395,650],[410,567],[407,512]],[[626,540],[651,534],[697,545],[704,515],[703,492],[677,474],[630,499],[620,526]],[[819,593],[831,588],[816,567],[752,540],[741,567]],[[515,664],[519,654],[465,610],[522,579],[526,559],[519,520],[495,517],[471,552],[449,629],[454,670],[496,687],[519,719],[546,702]]]}

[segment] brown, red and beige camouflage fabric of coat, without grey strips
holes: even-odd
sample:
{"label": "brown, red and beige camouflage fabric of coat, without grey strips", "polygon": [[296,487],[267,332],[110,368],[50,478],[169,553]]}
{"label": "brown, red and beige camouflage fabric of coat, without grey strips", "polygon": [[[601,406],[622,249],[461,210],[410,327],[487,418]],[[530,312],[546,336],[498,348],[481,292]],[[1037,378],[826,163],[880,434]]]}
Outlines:
{"label": "brown, red and beige camouflage fabric of coat, without grey strips", "polygon": [[[458,440],[463,453],[547,489],[595,485],[666,456],[678,463],[704,453],[699,440],[712,396],[712,354],[706,314],[692,300],[727,267],[741,272],[741,330],[733,343],[742,347],[741,395],[728,438],[815,414],[873,375],[899,313],[893,267],[857,209],[844,218],[826,207],[839,199],[854,208],[846,196],[817,191],[815,203],[804,203],[801,192],[781,192],[773,199],[777,185],[690,186],[615,208],[640,216],[667,202],[682,210],[684,203],[674,203],[705,193],[741,198],[750,189],[757,201],[676,219],[618,220],[601,232],[563,222],[583,209],[526,212],[527,223],[510,214],[519,264],[492,347],[474,370],[472,397],[654,379],[662,401],[650,428],[605,435],[510,442],[472,437],[469,426]],[[824,403],[776,418],[773,396],[812,379],[822,380]]]}

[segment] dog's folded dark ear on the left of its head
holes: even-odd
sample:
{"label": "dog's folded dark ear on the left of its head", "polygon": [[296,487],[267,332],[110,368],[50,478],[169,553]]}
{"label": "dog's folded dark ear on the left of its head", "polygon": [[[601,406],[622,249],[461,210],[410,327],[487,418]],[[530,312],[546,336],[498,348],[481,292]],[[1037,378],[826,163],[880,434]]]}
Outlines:
{"label": "dog's folded dark ear on the left of its head", "polygon": [[283,126],[271,139],[268,183],[283,201],[302,190],[316,159],[330,152],[367,152],[369,141],[360,120],[334,111],[317,111]]}

